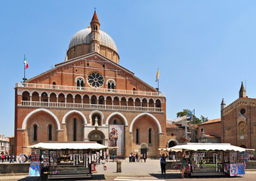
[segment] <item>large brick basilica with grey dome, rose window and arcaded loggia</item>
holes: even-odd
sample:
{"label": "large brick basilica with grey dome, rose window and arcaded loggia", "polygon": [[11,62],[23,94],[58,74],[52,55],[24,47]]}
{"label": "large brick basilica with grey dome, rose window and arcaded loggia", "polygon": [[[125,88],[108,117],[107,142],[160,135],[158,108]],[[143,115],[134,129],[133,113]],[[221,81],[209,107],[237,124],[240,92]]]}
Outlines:
{"label": "large brick basilica with grey dome, rose window and arcaded loggia", "polygon": [[97,141],[117,155],[165,148],[165,94],[119,65],[113,39],[91,28],[77,32],[66,60],[15,87],[15,153],[42,141]]}

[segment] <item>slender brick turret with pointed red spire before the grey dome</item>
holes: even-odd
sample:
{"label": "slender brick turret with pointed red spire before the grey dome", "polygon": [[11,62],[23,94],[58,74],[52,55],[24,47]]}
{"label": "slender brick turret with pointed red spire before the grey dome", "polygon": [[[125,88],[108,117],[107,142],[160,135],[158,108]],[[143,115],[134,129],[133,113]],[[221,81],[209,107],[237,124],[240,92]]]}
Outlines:
{"label": "slender brick turret with pointed red spire before the grey dome", "polygon": [[100,54],[100,22],[97,19],[96,10],[91,19],[91,52]]}

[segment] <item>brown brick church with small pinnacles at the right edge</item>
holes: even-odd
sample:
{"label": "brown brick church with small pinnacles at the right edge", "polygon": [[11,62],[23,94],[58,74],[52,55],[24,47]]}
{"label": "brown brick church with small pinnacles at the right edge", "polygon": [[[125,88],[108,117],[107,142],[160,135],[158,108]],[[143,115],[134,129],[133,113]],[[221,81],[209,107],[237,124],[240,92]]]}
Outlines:
{"label": "brown brick church with small pinnacles at the right edge", "polygon": [[243,84],[239,99],[226,106],[221,103],[222,143],[256,149],[256,99],[246,97]]}

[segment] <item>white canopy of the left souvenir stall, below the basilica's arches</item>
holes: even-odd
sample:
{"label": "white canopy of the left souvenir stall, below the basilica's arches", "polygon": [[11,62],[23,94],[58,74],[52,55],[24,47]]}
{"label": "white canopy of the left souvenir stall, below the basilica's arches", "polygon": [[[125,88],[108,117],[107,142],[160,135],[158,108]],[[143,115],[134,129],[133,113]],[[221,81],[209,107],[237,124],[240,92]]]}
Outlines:
{"label": "white canopy of the left souvenir stall, below the basilica's arches", "polygon": [[28,146],[32,149],[106,149],[107,146],[103,146],[99,143],[88,142],[41,142],[32,146]]}

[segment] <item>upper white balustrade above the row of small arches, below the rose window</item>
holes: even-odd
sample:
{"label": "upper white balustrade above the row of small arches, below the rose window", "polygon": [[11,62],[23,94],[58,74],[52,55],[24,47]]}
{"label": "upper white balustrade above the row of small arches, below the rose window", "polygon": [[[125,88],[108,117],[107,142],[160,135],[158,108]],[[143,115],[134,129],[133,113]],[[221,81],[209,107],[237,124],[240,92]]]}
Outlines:
{"label": "upper white balustrade above the row of small arches, below the rose window", "polygon": [[120,90],[120,89],[107,89],[107,88],[95,88],[95,87],[75,87],[68,85],[54,85],[54,84],[35,84],[18,82],[16,87],[28,87],[38,89],[55,89],[55,90],[73,90],[73,91],[84,91],[84,92],[98,92],[108,94],[134,94],[140,96],[153,96],[153,97],[165,97],[164,93],[160,92],[149,92],[140,90]]}

